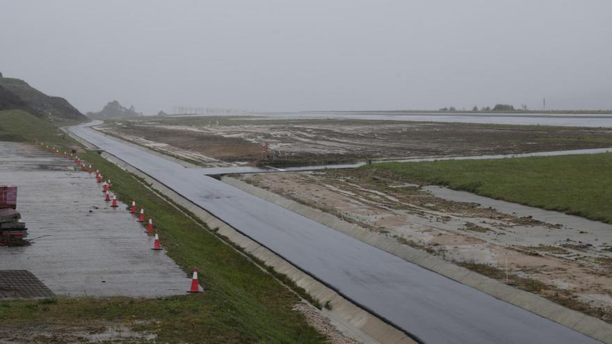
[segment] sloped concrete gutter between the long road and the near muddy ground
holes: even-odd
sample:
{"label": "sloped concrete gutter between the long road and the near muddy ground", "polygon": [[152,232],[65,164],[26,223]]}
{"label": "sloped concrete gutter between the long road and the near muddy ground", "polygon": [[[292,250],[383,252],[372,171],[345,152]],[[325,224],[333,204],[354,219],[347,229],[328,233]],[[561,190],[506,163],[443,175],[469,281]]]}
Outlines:
{"label": "sloped concrete gutter between the long road and the near muddy ground", "polygon": [[287,208],[306,218],[325,224],[332,229],[352,236],[364,243],[383,249],[405,261],[415,263],[423,268],[437,272],[440,275],[481,290],[483,293],[497,297],[499,300],[519,306],[522,309],[526,309],[539,316],[558,322],[561,325],[570,327],[570,329],[579,331],[582,334],[586,334],[604,343],[612,343],[612,325],[607,322],[591,316],[586,316],[578,311],[572,311],[571,309],[567,309],[538,295],[527,293],[526,291],[510,287],[500,281],[490,279],[489,277],[472,272],[466,268],[461,268],[437,256],[433,256],[432,254],[428,254],[427,252],[408,245],[403,245],[392,238],[372,233],[357,224],[341,220],[335,215],[305,206],[304,204],[276,195],[262,188],[257,188],[257,186],[252,186],[239,179],[223,176],[221,177],[221,181],[236,188],[240,188],[251,195],[266,199],[268,202]]}

